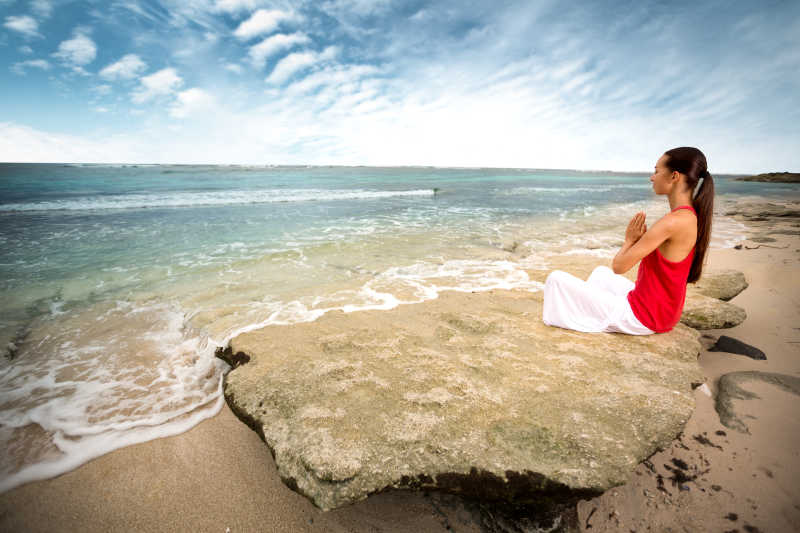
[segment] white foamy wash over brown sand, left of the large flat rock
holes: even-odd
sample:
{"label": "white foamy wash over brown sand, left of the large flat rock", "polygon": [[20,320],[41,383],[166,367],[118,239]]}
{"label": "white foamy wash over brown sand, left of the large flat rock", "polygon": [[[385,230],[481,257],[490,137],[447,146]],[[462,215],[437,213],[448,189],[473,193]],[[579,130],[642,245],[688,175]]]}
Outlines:
{"label": "white foamy wash over brown sand, left of the large flat rock", "polygon": [[221,409],[226,365],[170,304],[58,313],[35,321],[0,369],[0,492],[182,433]]}

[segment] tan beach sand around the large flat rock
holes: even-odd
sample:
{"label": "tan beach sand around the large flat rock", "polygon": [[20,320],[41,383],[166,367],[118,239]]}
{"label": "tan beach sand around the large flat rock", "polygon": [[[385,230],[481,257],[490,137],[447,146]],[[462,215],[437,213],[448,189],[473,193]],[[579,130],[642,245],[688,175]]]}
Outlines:
{"label": "tan beach sand around the large flat rock", "polygon": [[[710,253],[710,268],[741,270],[750,286],[732,301],[746,309],[747,320],[703,332],[706,347],[724,334],[756,346],[768,358],[703,351],[699,361],[712,392],[729,372],[800,376],[800,228],[791,220],[765,224],[751,224],[751,237],[774,228],[787,234],[770,233],[775,241],[760,246],[746,241],[740,250]],[[800,398],[765,383],[746,388],[758,398],[737,400],[735,407],[749,434],[724,427],[713,397],[697,389],[697,408],[683,435],[639,465],[626,484],[582,501],[580,529],[800,530]],[[491,504],[438,493],[388,491],[322,512],[281,482],[267,447],[226,405],[181,435],[129,446],[3,494],[0,530],[503,529]]]}

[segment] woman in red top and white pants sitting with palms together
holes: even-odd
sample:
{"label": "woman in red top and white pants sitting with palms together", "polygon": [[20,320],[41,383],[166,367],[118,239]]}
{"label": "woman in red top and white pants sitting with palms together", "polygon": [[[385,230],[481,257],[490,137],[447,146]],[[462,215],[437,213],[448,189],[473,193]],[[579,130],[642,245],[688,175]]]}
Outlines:
{"label": "woman in red top and white pants sitting with palms together", "polygon": [[[551,272],[544,288],[545,324],[649,335],[669,331],[678,323],[686,284],[700,279],[703,269],[714,181],[703,152],[690,147],[664,153],[650,181],[656,194],[669,199],[670,212],[650,229],[644,213],[634,215],[625,243],[614,257],[613,272],[599,266],[586,281],[559,270]],[[635,284],[620,276],[640,260]]]}

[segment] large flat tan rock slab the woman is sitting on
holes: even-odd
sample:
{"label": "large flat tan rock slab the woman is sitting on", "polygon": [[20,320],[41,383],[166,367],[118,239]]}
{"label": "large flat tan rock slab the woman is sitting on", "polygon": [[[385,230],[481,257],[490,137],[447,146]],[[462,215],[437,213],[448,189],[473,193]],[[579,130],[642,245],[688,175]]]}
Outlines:
{"label": "large flat tan rock slab the woman is sitting on", "polygon": [[541,306],[451,292],[245,333],[224,356],[242,363],[225,397],[323,509],[389,487],[599,493],[683,429],[699,335],[579,333],[545,326]]}

